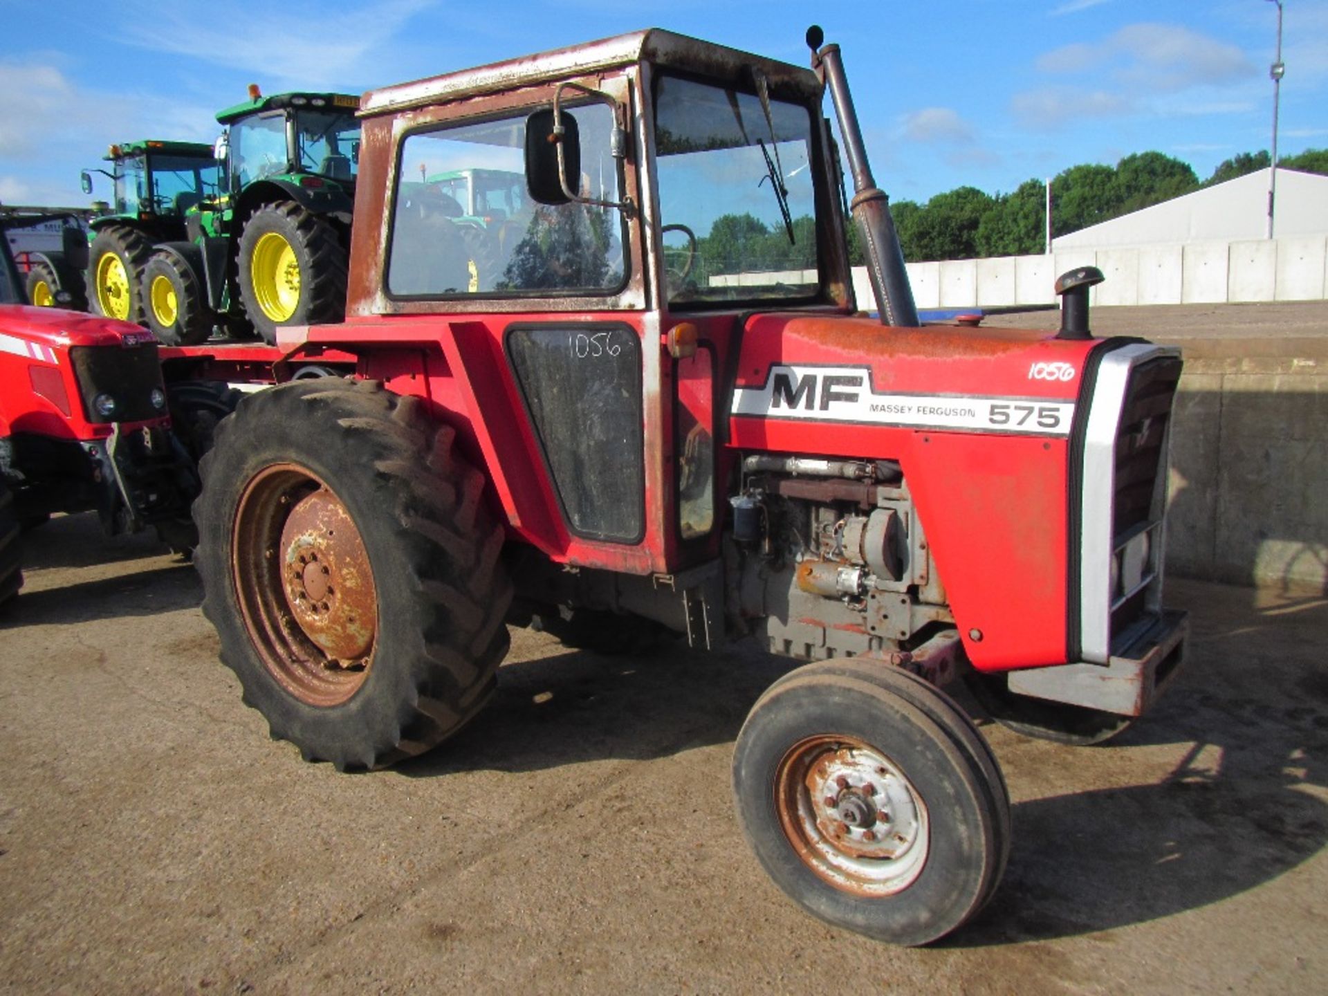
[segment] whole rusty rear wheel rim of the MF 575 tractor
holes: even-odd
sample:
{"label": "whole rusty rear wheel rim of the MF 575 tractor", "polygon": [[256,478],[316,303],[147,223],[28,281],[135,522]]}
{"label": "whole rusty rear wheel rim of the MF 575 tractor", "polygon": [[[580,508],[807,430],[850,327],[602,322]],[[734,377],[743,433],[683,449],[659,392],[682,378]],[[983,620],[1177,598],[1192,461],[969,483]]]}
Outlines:
{"label": "whole rusty rear wheel rim of the MF 575 tractor", "polygon": [[301,703],[333,706],[365,683],[377,644],[377,591],[364,540],[336,493],[295,463],[244,487],[231,563],[250,641]]}

